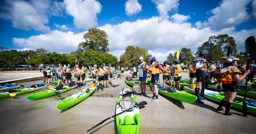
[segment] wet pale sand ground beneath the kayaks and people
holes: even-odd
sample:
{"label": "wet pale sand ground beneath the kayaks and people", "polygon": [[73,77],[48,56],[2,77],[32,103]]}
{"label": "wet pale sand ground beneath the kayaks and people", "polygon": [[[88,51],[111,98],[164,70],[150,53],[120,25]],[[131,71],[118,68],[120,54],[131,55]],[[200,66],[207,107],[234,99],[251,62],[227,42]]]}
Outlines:
{"label": "wet pale sand ground beneath the kayaks and people", "polygon": [[[60,96],[35,101],[26,98],[30,93],[2,99],[0,100],[0,132],[117,133],[114,119],[107,120],[90,132],[86,131],[115,115],[117,96],[123,87],[129,87],[124,83],[127,75],[131,76],[126,72],[122,79],[114,79],[113,83],[120,85],[94,93],[66,110],[57,109],[56,104],[63,98],[75,94],[78,91],[77,88]],[[182,78],[188,79],[188,73],[182,73]],[[134,80],[138,82],[137,79]],[[18,84],[27,87],[41,81],[24,81]],[[162,83],[160,80],[160,84]],[[134,93],[140,93],[138,84],[130,88]],[[42,91],[46,90],[48,89]],[[152,95],[149,86],[147,86],[147,96],[137,95],[138,102],[147,102],[147,105],[140,109],[140,133],[256,133],[255,115],[249,114],[245,118],[241,110],[231,109],[233,115],[224,116],[215,112],[218,103],[210,100],[205,100],[204,104],[197,102],[188,104],[159,95],[158,102],[151,102],[148,97]]]}

